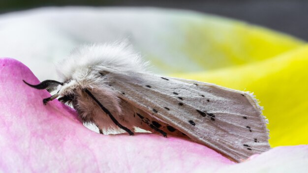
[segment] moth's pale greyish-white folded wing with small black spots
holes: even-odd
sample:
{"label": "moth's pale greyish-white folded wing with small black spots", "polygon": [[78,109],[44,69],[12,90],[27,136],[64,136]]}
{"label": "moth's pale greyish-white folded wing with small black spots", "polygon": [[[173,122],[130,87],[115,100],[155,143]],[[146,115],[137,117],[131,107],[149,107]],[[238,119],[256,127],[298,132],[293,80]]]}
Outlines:
{"label": "moth's pale greyish-white folded wing with small black spots", "polygon": [[115,82],[119,92],[125,91],[121,98],[191,140],[238,162],[270,148],[267,121],[251,93],[192,80],[138,76],[138,82]]}

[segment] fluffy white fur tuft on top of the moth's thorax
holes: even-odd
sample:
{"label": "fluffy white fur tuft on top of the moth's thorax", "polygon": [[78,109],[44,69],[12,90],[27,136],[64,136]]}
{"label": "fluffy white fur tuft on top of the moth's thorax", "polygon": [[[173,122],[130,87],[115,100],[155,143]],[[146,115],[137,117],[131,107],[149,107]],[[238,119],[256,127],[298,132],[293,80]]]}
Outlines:
{"label": "fluffy white fur tuft on top of the moth's thorax", "polygon": [[126,42],[84,45],[57,65],[63,82],[84,78],[92,70],[109,71],[116,74],[144,72],[147,63]]}

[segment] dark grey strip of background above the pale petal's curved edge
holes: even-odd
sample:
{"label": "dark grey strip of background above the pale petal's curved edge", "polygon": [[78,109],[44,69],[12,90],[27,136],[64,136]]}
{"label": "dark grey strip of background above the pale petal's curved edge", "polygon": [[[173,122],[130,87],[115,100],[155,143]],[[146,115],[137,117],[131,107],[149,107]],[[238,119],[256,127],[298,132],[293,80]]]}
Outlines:
{"label": "dark grey strip of background above the pale petal's curved edge", "polygon": [[0,13],[67,5],[189,9],[243,20],[308,40],[308,0],[0,0]]}

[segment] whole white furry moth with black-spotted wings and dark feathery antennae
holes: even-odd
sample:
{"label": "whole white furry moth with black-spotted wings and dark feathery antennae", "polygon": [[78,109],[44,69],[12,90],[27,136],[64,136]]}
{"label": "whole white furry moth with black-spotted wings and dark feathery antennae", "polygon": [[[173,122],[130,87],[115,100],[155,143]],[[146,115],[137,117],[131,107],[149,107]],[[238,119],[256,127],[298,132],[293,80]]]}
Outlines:
{"label": "whole white furry moth with black-spotted wings and dark feathery antennae", "polygon": [[30,87],[58,92],[47,102],[71,104],[101,134],[133,135],[139,127],[187,138],[240,162],[270,148],[267,120],[249,93],[210,83],[155,75],[125,43],[86,45],[58,65],[62,82]]}

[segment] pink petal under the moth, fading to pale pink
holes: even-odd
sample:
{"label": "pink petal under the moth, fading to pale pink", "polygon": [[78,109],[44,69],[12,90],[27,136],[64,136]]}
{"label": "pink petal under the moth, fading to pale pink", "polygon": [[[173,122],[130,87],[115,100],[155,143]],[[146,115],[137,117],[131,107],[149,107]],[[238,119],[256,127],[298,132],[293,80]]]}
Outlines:
{"label": "pink petal under the moth, fading to pale pink", "polygon": [[[46,69],[48,70],[48,69]],[[0,59],[0,172],[213,172],[232,161],[201,144],[154,134],[101,135],[46,90],[21,62]]]}

